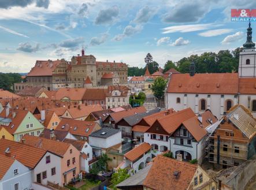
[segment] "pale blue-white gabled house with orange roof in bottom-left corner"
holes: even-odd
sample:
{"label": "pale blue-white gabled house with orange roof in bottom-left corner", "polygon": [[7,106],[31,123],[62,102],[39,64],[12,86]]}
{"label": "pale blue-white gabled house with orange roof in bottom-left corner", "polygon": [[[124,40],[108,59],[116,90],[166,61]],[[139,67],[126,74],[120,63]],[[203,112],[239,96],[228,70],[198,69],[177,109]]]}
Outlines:
{"label": "pale blue-white gabled house with orange roof in bottom-left corner", "polygon": [[0,190],[30,189],[32,171],[16,159],[0,155]]}

